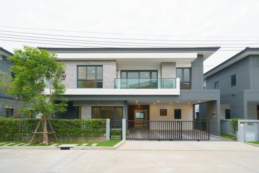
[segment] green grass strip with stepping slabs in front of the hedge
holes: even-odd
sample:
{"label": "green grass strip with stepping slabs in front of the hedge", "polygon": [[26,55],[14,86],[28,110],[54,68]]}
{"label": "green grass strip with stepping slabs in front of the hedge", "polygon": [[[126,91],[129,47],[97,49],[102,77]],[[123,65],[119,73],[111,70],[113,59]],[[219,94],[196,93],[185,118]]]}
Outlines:
{"label": "green grass strip with stepping slabs in front of the hedge", "polygon": [[[81,146],[84,143],[88,143],[87,146],[91,146],[92,144],[97,144],[97,146],[100,147],[112,147],[114,145],[116,145],[117,143],[119,143],[119,140],[114,140],[114,141],[105,141],[105,142],[53,142],[51,144],[49,144],[48,146],[51,146],[52,144],[58,144],[56,146],[62,145],[62,144],[78,144],[77,146]],[[10,144],[10,143],[14,143],[11,144],[9,146],[14,146],[16,144],[20,144],[20,143],[24,143],[24,144],[28,144],[29,142],[16,142],[16,141],[0,141],[0,143],[5,143],[5,144],[0,144],[0,146],[4,146],[6,144]],[[39,145],[38,142],[33,142],[31,145],[27,145],[27,146],[47,146],[47,145]]]}

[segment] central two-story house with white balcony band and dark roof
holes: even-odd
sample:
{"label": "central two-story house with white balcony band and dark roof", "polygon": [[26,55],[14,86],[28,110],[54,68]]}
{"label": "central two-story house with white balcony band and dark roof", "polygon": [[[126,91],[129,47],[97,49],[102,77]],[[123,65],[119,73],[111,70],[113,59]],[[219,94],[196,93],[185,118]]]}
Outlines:
{"label": "central two-story house with white balcony band and dark roof", "polygon": [[203,89],[203,61],[219,47],[39,49],[66,65],[69,106],[57,118],[194,120],[206,103],[210,134],[220,135],[220,92]]}

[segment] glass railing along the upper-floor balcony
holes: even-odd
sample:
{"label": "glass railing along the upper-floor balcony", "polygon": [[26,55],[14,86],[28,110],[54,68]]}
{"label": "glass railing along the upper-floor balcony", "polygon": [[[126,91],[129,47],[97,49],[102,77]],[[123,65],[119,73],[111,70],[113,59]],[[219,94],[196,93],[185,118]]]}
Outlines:
{"label": "glass railing along the upper-floor balcony", "polygon": [[122,79],[115,78],[115,89],[176,89],[176,78]]}

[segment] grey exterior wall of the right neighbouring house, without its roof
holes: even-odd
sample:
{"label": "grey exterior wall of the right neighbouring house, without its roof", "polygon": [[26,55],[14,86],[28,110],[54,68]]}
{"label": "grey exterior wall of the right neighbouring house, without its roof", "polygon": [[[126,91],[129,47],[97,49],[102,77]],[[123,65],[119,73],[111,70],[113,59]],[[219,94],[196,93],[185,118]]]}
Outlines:
{"label": "grey exterior wall of the right neighbouring house, without its roof", "polygon": [[[236,85],[231,76],[236,74]],[[254,119],[247,108],[249,101],[259,101],[259,55],[249,55],[230,66],[206,77],[206,89],[214,89],[219,81],[221,104],[230,104],[231,118]]]}

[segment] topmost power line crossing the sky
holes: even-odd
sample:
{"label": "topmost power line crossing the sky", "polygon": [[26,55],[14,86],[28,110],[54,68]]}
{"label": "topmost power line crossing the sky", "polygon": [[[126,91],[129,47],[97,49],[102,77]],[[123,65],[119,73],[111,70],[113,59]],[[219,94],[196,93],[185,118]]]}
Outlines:
{"label": "topmost power line crossing the sky", "polygon": [[62,32],[79,32],[79,33],[99,33],[99,34],[116,34],[116,35],[145,35],[145,36],[170,36],[170,37],[205,37],[205,38],[259,38],[254,36],[192,36],[192,35],[164,35],[164,34],[134,34],[134,33],[116,33],[116,32],[91,32],[91,31],[75,31],[62,29],[41,29],[41,28],[27,28],[15,26],[0,26],[5,28],[31,29],[31,30],[46,30],[46,31],[62,31]]}

